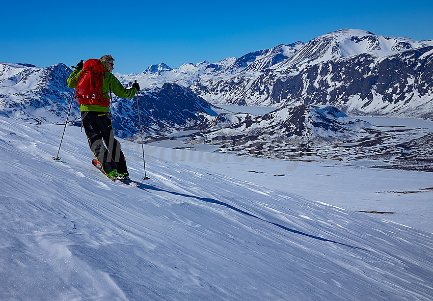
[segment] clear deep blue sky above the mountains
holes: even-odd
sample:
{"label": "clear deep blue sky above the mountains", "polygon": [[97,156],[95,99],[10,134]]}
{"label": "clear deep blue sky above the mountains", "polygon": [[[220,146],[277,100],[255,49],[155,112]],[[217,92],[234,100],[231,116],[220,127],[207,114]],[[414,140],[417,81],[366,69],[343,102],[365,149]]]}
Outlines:
{"label": "clear deep blue sky above the mountains", "polygon": [[431,1],[8,1],[0,61],[47,67],[112,54],[113,72],[217,62],[343,28],[433,40]]}

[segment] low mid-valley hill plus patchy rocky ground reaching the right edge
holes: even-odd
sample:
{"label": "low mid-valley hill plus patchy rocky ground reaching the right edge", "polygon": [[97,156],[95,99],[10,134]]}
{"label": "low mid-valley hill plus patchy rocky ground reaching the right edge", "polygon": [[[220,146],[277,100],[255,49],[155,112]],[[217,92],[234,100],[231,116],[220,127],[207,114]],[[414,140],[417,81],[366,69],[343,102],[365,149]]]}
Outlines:
{"label": "low mid-valley hill plus patchy rocky ground reaching the right edge", "polygon": [[220,114],[184,143],[264,158],[348,163],[373,159],[388,168],[433,170],[429,129],[375,126],[330,105],[284,106],[260,116]]}

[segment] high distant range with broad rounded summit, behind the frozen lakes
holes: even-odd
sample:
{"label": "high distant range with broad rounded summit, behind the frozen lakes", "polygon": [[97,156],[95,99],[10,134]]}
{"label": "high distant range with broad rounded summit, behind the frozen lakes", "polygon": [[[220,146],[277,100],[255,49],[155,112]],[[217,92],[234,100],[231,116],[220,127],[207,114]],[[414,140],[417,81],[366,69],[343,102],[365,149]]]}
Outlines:
{"label": "high distant range with broad rounded summit, behind the frozen lakes", "polygon": [[143,87],[167,81],[212,104],[328,104],[352,116],[433,119],[433,41],[339,30],[217,63],[151,66],[122,76]]}

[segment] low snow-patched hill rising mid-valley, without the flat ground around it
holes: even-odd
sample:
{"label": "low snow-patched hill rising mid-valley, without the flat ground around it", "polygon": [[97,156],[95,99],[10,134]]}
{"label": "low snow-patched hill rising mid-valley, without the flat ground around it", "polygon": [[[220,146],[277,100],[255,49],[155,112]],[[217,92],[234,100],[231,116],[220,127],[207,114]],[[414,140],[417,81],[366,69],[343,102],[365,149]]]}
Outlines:
{"label": "low snow-patched hill rising mid-valley, without the flat ground around it", "polygon": [[[268,135],[270,139],[296,143],[332,141],[367,133],[372,126],[351,118],[334,106],[303,104],[285,106],[262,116],[221,114],[207,130],[208,139],[216,136]],[[201,133],[196,133],[196,136]],[[231,139],[230,139],[231,140]],[[254,139],[251,139],[252,141]]]}

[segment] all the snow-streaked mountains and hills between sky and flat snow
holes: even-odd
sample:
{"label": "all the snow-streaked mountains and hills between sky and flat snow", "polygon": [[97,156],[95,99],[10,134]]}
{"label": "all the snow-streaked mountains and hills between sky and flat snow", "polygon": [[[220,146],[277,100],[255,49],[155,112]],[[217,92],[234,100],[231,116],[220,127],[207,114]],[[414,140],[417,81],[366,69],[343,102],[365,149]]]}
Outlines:
{"label": "all the snow-streaked mountains and hills between sky and flat snow", "polygon": [[[377,127],[350,117],[433,120],[432,45],[340,30],[306,44],[280,44],[217,63],[176,69],[161,63],[140,74],[115,75],[125,86],[138,80],[144,87],[139,105],[147,141],[194,129],[185,143],[213,144],[218,151],[240,155],[372,159],[433,171],[433,139],[427,130]],[[71,72],[64,64],[0,63],[0,115],[64,123],[73,93],[66,86]],[[218,104],[275,111],[217,116]],[[72,105],[69,120],[78,125],[78,104]],[[112,115],[116,134],[137,140],[137,97],[114,96]]]}

